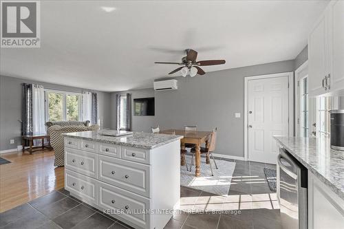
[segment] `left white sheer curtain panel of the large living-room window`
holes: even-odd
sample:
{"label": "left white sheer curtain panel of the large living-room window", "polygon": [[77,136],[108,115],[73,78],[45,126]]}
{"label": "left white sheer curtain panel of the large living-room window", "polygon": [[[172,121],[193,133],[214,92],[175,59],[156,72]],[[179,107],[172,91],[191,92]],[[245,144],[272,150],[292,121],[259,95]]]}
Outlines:
{"label": "left white sheer curtain panel of the large living-room window", "polygon": [[[41,85],[32,85],[32,132],[33,134],[45,134],[45,109],[44,88]],[[41,144],[41,140],[35,140],[34,144]]]}

